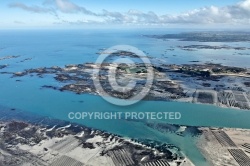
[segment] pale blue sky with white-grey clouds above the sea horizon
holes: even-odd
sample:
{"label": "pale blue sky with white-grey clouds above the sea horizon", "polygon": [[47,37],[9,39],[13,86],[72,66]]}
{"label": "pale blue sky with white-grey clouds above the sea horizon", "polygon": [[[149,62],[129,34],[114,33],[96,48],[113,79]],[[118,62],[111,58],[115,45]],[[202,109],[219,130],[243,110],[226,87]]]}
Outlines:
{"label": "pale blue sky with white-grey clouds above the sea horizon", "polygon": [[250,27],[250,0],[1,0],[0,28]]}

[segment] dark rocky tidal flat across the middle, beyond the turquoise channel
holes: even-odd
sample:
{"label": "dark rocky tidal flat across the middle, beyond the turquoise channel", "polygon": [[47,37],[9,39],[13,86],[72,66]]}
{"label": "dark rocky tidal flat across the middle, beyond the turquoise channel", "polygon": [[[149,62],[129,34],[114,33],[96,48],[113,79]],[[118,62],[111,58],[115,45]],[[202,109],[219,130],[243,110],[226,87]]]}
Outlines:
{"label": "dark rocky tidal flat across the middle, beyond the turquoise channel", "polygon": [[[119,55],[119,53],[116,54],[116,56]],[[150,65],[109,62],[68,64],[65,67],[26,69],[12,73],[12,78],[36,75],[42,79],[45,75],[52,75],[62,86],[46,84],[41,88],[62,92],[70,91],[76,94],[106,95],[94,85],[94,80],[98,79],[100,84],[98,86],[103,86],[104,91],[110,96],[129,99],[139,93],[146,85],[148,67],[152,68],[154,78],[152,86],[148,87],[150,90],[144,100],[191,102],[250,109],[250,70],[221,64]],[[136,81],[135,88],[126,93],[114,90],[108,72],[113,68],[116,68],[117,82],[120,84],[125,82],[126,84],[129,80],[133,80]],[[96,70],[99,72],[96,73]]]}

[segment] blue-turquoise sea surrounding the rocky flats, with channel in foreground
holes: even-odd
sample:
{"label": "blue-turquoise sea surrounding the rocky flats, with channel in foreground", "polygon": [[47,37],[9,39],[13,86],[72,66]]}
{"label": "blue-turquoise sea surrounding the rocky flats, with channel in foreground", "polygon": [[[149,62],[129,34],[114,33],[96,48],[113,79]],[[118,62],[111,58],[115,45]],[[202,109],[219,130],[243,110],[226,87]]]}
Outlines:
{"label": "blue-turquoise sea surrounding the rocky flats, with channel in foreground", "polygon": [[[20,55],[15,59],[1,60],[0,65],[9,66],[0,72],[18,72],[23,69],[61,66],[95,62],[99,49],[126,44],[139,48],[148,55],[163,58],[164,63],[183,64],[198,60],[216,62],[224,65],[249,67],[247,51],[235,50],[199,50],[184,51],[171,46],[201,44],[199,42],[163,41],[147,38],[145,34],[176,33],[181,30],[5,30],[0,31],[0,57]],[[250,43],[202,43],[206,45],[247,46]],[[238,55],[243,53],[246,55]],[[165,54],[164,57],[162,54]],[[176,55],[176,56],[173,56]],[[20,62],[23,59],[32,60]],[[155,60],[153,63],[160,63]],[[162,63],[162,61],[161,61]],[[16,81],[21,80],[21,81]],[[181,112],[180,120],[163,122],[191,125],[250,128],[250,111],[219,108],[210,105],[198,105],[179,102],[142,101],[128,107],[119,107],[107,103],[99,96],[76,95],[41,89],[42,85],[61,86],[52,76],[10,78],[0,74],[0,105],[23,111],[69,121],[69,112],[94,111],[134,111],[134,112]],[[77,123],[95,127],[130,138],[148,138],[172,143],[197,165],[206,165],[204,157],[195,146],[195,138],[181,137],[171,133],[160,133],[147,127],[143,122],[125,120],[77,120]],[[162,121],[161,121],[162,122]]]}

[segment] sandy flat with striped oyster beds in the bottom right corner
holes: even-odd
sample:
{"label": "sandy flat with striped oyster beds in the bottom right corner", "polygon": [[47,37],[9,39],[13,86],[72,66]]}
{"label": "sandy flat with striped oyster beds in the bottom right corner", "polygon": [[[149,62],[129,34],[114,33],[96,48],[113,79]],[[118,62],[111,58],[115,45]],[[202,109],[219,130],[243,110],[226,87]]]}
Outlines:
{"label": "sandy flat with striped oyster beds in the bottom right corner", "polygon": [[[244,147],[249,143],[250,129],[202,127],[200,130],[202,135],[197,139],[197,147],[210,165],[238,166],[250,163],[249,150]],[[242,163],[239,161],[240,156],[245,156]]]}

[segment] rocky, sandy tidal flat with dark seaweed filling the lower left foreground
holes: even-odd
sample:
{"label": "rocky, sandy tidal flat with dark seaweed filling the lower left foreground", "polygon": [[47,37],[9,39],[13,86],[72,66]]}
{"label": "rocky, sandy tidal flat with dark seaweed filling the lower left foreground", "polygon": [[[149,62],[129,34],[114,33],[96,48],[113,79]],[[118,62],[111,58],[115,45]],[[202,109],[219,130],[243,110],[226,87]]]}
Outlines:
{"label": "rocky, sandy tidal flat with dark seaweed filling the lower left foreground", "polygon": [[131,166],[158,162],[193,166],[186,157],[173,154],[164,145],[145,144],[62,120],[25,118],[6,115],[0,121],[0,141],[4,143],[0,146],[0,163],[54,166],[66,159],[68,164],[93,166],[116,166],[117,160]]}

